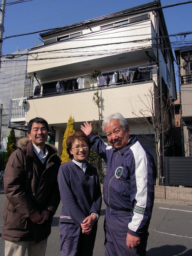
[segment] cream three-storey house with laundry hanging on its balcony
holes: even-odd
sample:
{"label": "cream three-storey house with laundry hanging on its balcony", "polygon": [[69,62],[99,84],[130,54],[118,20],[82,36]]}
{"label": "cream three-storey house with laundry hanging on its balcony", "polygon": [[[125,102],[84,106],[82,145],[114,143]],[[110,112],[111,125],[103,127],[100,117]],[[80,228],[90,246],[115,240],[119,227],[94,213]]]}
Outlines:
{"label": "cream three-storey house with laundry hanging on its balcony", "polygon": [[[89,76],[95,68],[102,72],[98,81],[101,118],[122,113],[132,134],[155,156],[154,144],[142,137],[143,132],[153,132],[147,122],[141,127],[134,120],[143,120],[139,110],[146,110],[149,102],[145,95],[150,89],[161,95],[156,110],[164,99],[170,104],[177,97],[174,58],[160,6],[160,1],[154,1],[40,34],[44,45],[29,51],[27,72],[36,74],[42,88],[39,96],[27,99],[26,121],[35,116],[48,121],[59,155],[70,115],[76,131],[84,121],[98,120],[93,102],[97,83]],[[174,118],[172,107],[169,123],[173,126]]]}

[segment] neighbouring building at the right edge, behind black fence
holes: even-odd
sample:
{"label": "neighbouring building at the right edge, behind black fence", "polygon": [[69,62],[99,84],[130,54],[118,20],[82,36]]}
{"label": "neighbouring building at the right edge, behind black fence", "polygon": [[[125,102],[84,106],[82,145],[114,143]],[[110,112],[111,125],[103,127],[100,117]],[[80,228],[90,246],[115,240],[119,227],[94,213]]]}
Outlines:
{"label": "neighbouring building at the right edge, behind black fence", "polygon": [[180,78],[184,156],[192,156],[192,46],[175,49]]}

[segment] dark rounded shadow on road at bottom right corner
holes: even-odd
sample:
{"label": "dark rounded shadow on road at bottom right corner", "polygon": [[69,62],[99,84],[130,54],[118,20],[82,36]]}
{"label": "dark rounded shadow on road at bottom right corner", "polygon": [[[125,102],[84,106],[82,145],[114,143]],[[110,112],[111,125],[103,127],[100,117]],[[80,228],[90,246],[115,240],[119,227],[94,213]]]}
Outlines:
{"label": "dark rounded shadow on road at bottom right corner", "polygon": [[185,250],[186,247],[183,245],[164,245],[160,247],[151,248],[150,250],[148,250],[147,256],[192,256],[192,250],[184,252]]}

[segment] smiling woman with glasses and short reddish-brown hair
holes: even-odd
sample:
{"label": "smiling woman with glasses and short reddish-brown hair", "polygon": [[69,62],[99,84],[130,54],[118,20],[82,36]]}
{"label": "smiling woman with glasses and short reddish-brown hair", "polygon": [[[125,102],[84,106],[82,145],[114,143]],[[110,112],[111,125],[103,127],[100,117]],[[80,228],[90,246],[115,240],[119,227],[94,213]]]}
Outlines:
{"label": "smiling woman with glasses and short reddish-brown hair", "polygon": [[82,132],[67,138],[71,158],[60,166],[58,184],[62,201],[60,255],[92,256],[102,194],[96,168],[86,162],[90,139]]}

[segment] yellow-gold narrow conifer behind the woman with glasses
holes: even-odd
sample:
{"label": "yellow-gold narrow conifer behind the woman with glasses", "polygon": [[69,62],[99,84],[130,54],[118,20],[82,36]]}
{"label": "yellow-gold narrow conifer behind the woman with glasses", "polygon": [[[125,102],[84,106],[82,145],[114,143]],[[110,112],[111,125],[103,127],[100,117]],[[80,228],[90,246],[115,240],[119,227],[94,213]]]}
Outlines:
{"label": "yellow-gold narrow conifer behind the woman with glasses", "polygon": [[73,120],[72,116],[70,115],[66,130],[65,130],[65,133],[63,136],[63,151],[62,151],[62,155],[61,155],[62,164],[70,161],[69,155],[67,154],[67,150],[66,150],[67,149],[66,140],[67,140],[68,136],[73,135],[74,133],[75,133],[74,120]]}

